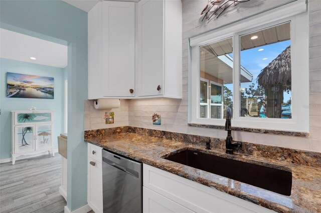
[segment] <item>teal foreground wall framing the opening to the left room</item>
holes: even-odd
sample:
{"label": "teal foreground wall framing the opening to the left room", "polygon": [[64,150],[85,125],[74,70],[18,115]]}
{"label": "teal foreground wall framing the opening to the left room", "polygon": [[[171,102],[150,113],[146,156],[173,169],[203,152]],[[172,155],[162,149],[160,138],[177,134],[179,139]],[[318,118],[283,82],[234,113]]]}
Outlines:
{"label": "teal foreground wall framing the opening to the left room", "polygon": [[75,210],[87,203],[87,12],[61,0],[1,0],[0,26],[68,43],[67,206]]}

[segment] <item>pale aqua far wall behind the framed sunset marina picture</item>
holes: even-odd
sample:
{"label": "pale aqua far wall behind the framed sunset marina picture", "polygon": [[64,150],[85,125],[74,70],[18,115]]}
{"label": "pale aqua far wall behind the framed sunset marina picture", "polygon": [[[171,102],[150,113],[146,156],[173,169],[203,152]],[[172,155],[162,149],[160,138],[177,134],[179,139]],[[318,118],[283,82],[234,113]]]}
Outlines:
{"label": "pale aqua far wall behind the framed sunset marina picture", "polygon": [[[54,99],[6,97],[7,72],[54,77]],[[3,123],[0,126],[0,159],[11,157],[11,111],[28,110],[31,106],[35,106],[37,110],[54,110],[54,142],[55,148],[58,148],[57,136],[64,131],[64,69],[0,58],[0,74],[0,96],[3,103],[0,116],[0,122]]]}

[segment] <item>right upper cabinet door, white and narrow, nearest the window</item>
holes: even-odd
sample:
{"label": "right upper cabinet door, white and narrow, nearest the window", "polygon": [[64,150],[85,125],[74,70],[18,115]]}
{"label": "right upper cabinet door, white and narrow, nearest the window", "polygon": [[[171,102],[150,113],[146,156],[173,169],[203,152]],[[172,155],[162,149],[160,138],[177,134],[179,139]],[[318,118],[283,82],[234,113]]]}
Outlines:
{"label": "right upper cabinet door, white and narrow, nearest the window", "polygon": [[164,3],[138,2],[138,96],[164,94]]}

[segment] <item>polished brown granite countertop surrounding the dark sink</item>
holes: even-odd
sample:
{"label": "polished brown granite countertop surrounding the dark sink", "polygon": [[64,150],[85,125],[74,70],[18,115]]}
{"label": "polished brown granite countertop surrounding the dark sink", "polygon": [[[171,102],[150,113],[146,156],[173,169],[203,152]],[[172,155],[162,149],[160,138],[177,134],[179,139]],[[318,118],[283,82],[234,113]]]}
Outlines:
{"label": "polished brown granite countertop surrounding the dark sink", "polygon": [[[223,149],[206,150],[204,145],[151,137],[136,133],[119,133],[110,136],[86,138],[87,142],[133,158],[145,164],[183,176],[244,200],[277,212],[321,212],[321,168],[288,161],[279,161],[253,155],[226,154]],[[287,167],[292,170],[290,196],[281,195],[227,177],[166,160],[173,151],[197,149],[226,158],[247,161],[269,167]]]}

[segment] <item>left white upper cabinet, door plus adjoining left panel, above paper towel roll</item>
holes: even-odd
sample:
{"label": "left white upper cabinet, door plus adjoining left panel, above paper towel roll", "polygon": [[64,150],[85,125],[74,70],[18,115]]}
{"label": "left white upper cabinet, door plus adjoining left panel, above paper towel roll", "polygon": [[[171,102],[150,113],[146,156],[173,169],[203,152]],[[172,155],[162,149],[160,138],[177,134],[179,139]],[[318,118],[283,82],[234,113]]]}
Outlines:
{"label": "left white upper cabinet, door plus adjoining left panel, above paper towel roll", "polygon": [[135,95],[135,3],[102,1],[88,13],[88,98]]}

